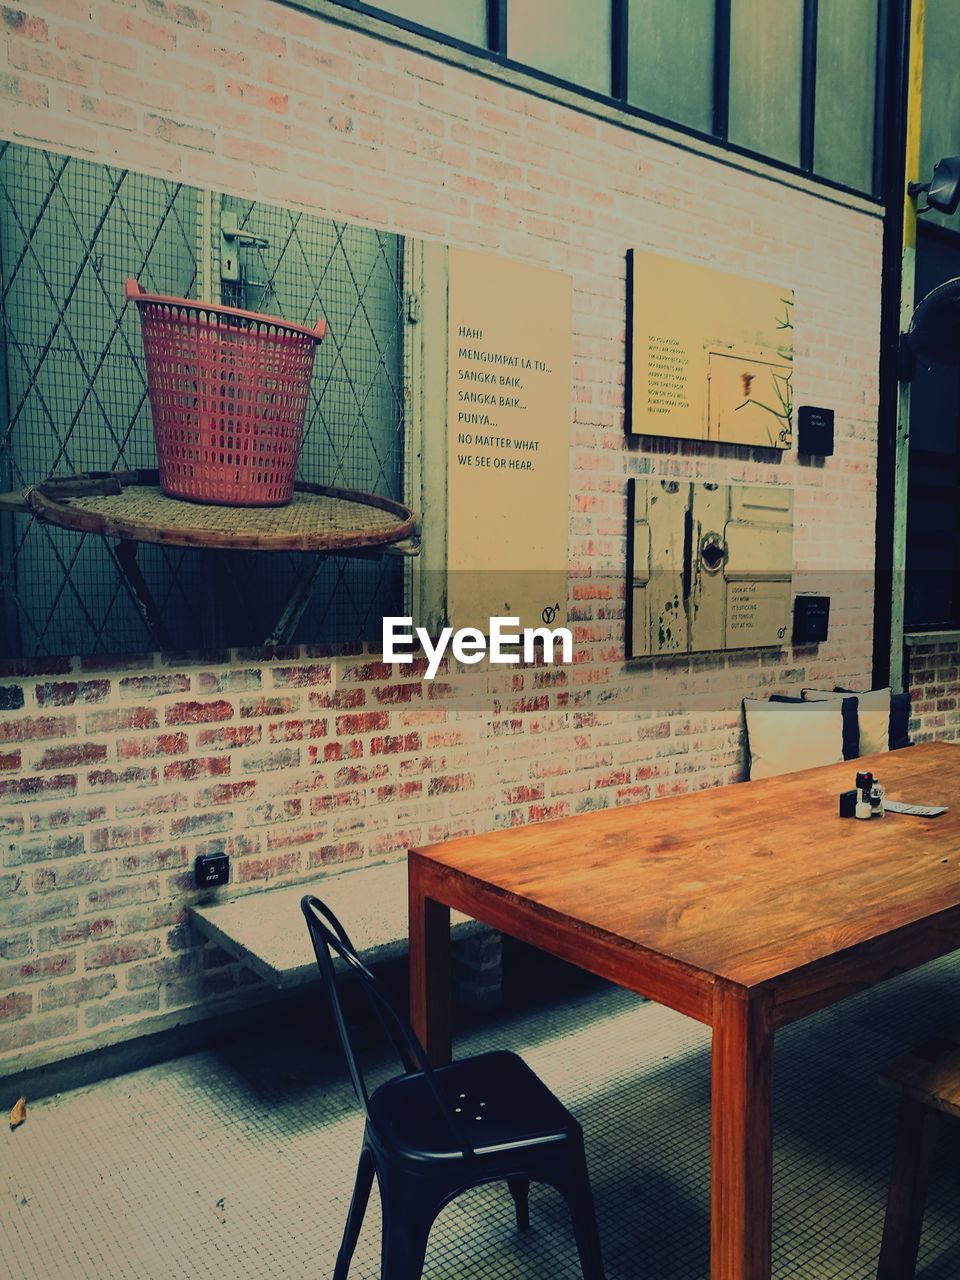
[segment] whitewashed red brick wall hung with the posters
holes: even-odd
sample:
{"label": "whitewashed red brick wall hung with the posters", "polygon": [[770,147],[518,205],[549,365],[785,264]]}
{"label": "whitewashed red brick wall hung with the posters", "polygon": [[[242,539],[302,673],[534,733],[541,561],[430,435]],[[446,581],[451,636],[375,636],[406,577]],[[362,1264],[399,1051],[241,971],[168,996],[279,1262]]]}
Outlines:
{"label": "whitewashed red brick wall hung with the posters", "polygon": [[[261,995],[191,938],[200,851],[225,849],[230,892],[250,892],[732,782],[744,695],[869,680],[869,210],[270,0],[12,0],[0,23],[0,127],[18,142],[572,275],[577,641],[570,668],[433,686],[310,649],[8,664],[0,1074]],[[795,287],[796,402],[837,411],[832,460],[625,443],[628,246]],[[833,598],[829,643],[625,666],[625,489],[640,474],[792,485],[796,567]]]}

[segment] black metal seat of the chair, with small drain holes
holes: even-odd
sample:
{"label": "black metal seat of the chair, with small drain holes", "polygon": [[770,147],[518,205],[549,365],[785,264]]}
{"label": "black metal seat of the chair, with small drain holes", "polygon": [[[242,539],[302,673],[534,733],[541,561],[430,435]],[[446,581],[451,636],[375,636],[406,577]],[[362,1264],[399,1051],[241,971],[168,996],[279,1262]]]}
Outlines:
{"label": "black metal seat of the chair, with small drain holes", "polygon": [[[479,1053],[435,1068],[451,1115],[477,1156],[564,1142],[579,1125],[516,1053]],[[422,1074],[388,1080],[370,1097],[379,1140],[412,1160],[462,1160]]]}

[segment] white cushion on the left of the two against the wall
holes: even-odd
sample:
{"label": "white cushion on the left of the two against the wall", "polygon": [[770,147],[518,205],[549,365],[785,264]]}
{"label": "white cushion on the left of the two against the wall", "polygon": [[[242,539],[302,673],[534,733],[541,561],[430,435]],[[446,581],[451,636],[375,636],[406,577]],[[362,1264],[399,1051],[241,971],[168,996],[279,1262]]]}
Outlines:
{"label": "white cushion on the left of the two against the wall", "polygon": [[844,759],[844,717],[840,699],[768,703],[744,699],[750,748],[750,781],[773,778]]}

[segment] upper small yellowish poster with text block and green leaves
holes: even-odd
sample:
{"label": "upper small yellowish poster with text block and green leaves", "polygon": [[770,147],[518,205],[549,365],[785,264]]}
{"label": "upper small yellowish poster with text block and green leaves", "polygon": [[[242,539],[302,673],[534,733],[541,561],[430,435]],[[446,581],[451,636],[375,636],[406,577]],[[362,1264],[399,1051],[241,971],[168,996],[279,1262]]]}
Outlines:
{"label": "upper small yellowish poster with text block and green leaves", "polygon": [[627,308],[631,435],[791,447],[792,289],[631,250]]}

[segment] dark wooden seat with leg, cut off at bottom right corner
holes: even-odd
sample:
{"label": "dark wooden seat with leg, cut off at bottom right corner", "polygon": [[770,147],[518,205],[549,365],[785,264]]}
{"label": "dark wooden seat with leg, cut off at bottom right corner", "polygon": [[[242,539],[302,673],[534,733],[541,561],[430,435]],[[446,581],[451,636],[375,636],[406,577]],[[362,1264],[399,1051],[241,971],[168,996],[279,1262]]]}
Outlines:
{"label": "dark wooden seat with leg, cut off at bottom right corner", "polygon": [[960,1117],[960,1032],[909,1050],[881,1083],[902,1101],[877,1280],[913,1280],[940,1117]]}

